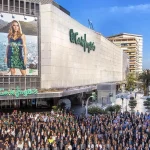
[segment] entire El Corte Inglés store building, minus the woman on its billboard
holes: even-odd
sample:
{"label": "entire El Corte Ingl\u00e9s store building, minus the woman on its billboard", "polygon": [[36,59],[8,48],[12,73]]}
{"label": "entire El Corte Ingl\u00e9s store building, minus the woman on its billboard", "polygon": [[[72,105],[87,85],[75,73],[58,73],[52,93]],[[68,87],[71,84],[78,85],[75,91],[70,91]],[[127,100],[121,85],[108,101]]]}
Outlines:
{"label": "entire El Corte Ingl\u00e9s store building, minus the woman on its billboard", "polygon": [[61,97],[96,90],[99,83],[123,80],[126,61],[120,48],[71,18],[58,4],[0,0],[0,10],[2,49],[13,20],[20,22],[28,49],[25,76],[19,69],[11,75],[0,61],[1,108],[55,104]]}

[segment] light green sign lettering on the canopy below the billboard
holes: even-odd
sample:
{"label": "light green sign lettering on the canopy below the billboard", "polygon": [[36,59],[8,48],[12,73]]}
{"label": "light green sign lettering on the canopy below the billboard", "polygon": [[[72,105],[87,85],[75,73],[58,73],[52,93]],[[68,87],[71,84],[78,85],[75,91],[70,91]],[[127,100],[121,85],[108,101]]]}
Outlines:
{"label": "light green sign lettering on the canopy below the billboard", "polygon": [[27,89],[27,90],[21,90],[19,87],[17,87],[15,90],[4,90],[3,88],[0,88],[0,96],[16,96],[17,98],[20,95],[23,96],[28,96],[28,95],[32,95],[32,94],[37,94],[38,90],[37,89]]}

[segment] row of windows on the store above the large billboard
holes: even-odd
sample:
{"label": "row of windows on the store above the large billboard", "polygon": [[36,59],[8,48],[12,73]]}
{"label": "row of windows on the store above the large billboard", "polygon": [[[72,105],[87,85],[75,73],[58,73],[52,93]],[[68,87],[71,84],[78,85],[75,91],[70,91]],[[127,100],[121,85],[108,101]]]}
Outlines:
{"label": "row of windows on the store above the large billboard", "polygon": [[37,16],[39,14],[39,4],[21,0],[0,0],[0,12]]}

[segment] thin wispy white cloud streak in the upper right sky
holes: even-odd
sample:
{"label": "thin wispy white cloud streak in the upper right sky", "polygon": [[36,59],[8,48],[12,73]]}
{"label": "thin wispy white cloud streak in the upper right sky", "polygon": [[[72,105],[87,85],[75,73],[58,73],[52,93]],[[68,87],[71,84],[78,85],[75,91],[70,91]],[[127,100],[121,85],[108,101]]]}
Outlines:
{"label": "thin wispy white cloud streak in the upper right sky", "polygon": [[130,5],[126,7],[114,6],[110,8],[111,12],[130,13],[133,11],[150,12],[150,4]]}

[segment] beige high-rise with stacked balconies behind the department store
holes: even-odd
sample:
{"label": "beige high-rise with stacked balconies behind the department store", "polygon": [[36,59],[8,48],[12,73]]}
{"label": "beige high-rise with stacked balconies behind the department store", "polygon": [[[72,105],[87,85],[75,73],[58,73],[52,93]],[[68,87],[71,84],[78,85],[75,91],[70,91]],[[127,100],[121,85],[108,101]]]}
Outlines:
{"label": "beige high-rise with stacked balconies behind the department store", "polygon": [[121,33],[109,36],[108,39],[129,55],[129,71],[142,72],[142,35]]}

